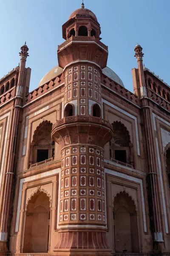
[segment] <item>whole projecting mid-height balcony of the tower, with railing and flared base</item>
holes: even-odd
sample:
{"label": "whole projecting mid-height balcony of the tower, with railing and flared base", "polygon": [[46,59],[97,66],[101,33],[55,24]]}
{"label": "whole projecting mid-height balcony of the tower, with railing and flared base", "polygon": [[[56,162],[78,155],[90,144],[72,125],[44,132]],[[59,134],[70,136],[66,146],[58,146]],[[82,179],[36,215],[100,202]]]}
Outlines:
{"label": "whole projecting mid-height balcony of the tower, with railing and flared base", "polygon": [[73,143],[95,144],[101,147],[111,140],[111,124],[95,116],[68,116],[58,120],[51,132],[52,139],[61,147]]}

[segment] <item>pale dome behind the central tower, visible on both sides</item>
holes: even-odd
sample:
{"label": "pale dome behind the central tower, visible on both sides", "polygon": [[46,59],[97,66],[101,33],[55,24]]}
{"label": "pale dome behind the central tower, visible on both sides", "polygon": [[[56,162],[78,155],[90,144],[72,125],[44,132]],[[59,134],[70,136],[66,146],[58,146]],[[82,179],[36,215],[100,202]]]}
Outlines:
{"label": "pale dome behind the central tower, visible on both sides", "polygon": [[[38,87],[40,87],[42,84],[47,83],[48,81],[50,81],[51,79],[54,79],[55,77],[59,76],[61,73],[63,72],[63,69],[61,67],[59,67],[58,65],[54,68],[52,68],[40,81]],[[124,84],[122,82],[122,80],[119,78],[119,76],[113,71],[111,70],[109,67],[105,67],[102,70],[102,73],[105,74],[106,76],[108,76],[109,78],[111,78],[113,81],[115,81],[116,83],[122,85],[124,87]]]}

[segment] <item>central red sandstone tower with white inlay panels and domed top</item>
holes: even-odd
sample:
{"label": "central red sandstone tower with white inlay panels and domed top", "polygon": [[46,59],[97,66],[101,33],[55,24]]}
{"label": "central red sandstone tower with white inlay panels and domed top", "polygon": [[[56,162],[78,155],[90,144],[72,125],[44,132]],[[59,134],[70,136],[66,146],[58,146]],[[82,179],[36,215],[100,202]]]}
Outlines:
{"label": "central red sandstone tower with white inlay panels and domed top", "polygon": [[62,155],[55,252],[110,256],[103,154],[113,132],[101,117],[100,82],[108,47],[100,42],[96,16],[84,4],[71,14],[62,32],[66,41],[58,47],[58,62],[65,76],[64,118],[52,130]]}

